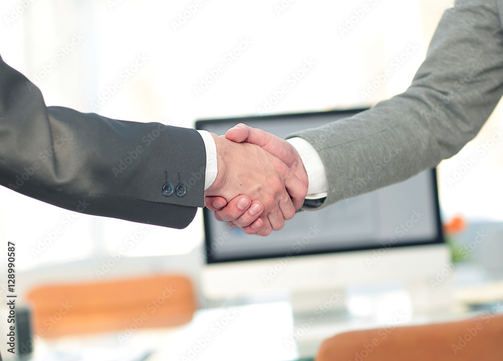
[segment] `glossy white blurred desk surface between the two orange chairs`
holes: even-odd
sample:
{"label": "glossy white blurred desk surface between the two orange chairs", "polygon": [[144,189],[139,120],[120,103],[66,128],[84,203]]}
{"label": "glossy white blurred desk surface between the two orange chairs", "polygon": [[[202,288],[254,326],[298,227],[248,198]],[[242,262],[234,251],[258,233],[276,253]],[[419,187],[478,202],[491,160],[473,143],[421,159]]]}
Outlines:
{"label": "glossy white blurred desk surface between the two orange chairs", "polygon": [[[482,295],[483,286],[476,287],[475,292],[463,287],[457,294],[462,299],[473,297],[474,293]],[[488,284],[485,290],[484,297],[503,300],[503,283]],[[462,309],[414,314],[409,305],[402,302],[403,295],[399,292],[385,295],[397,302],[387,302],[384,298],[387,308],[373,317],[334,317],[327,313],[314,319],[315,322],[309,322],[309,318],[294,322],[287,302],[202,309],[190,323],[176,328],[131,327],[120,333],[40,340],[34,358],[37,361],[139,361],[151,351],[148,361],[290,361],[312,357],[323,339],[339,332],[380,328],[384,335],[396,326],[462,319],[475,314]],[[112,357],[114,352],[120,352],[120,357]],[[112,356],[106,357],[108,354]]]}

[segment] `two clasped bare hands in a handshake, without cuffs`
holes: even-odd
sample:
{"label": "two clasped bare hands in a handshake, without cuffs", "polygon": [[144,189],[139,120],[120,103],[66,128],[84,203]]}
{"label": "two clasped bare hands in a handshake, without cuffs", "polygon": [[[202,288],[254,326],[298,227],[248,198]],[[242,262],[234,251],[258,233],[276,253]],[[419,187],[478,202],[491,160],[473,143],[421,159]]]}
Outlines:
{"label": "two clasped bare hands in a handshake, without cuffs", "polygon": [[308,177],[297,150],[280,137],[244,124],[225,136],[212,136],[218,173],[204,192],[206,207],[217,220],[247,234],[267,236],[283,228],[307,194]]}

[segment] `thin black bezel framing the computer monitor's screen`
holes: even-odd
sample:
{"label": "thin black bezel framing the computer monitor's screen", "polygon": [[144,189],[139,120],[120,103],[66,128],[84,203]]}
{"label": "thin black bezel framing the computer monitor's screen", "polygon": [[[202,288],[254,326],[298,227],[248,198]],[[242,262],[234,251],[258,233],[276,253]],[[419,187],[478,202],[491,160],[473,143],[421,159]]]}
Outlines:
{"label": "thin black bezel framing the computer monitor's screen", "polygon": [[[229,122],[235,121],[235,123],[246,123],[247,121],[264,121],[267,122],[270,119],[281,119],[281,118],[301,118],[301,117],[309,117],[309,116],[343,116],[340,119],[344,118],[344,115],[353,116],[362,111],[368,110],[368,108],[357,108],[357,109],[344,109],[344,110],[330,110],[324,112],[307,112],[307,113],[284,113],[284,114],[273,114],[273,115],[265,115],[265,116],[248,116],[248,117],[230,117],[230,118],[215,118],[215,119],[201,119],[196,121],[196,129],[206,130],[205,125],[221,123],[221,122]],[[260,127],[258,127],[260,128]],[[442,228],[442,220],[440,217],[440,202],[438,196],[438,182],[437,182],[437,171],[436,168],[430,169],[430,176],[432,177],[433,184],[433,204],[435,211],[435,226],[436,226],[436,236],[426,239],[417,239],[417,240],[407,240],[406,243],[394,243],[390,244],[389,248],[399,248],[399,247],[410,247],[410,246],[418,246],[418,245],[434,245],[434,244],[442,244],[445,243],[443,228]],[[382,245],[362,245],[362,246],[349,246],[349,247],[326,247],[323,249],[316,250],[302,250],[299,253],[291,253],[291,252],[273,252],[267,255],[254,255],[254,256],[238,256],[238,257],[219,257],[215,259],[213,256],[213,252],[211,251],[211,239],[209,235],[211,234],[211,222],[210,217],[213,217],[213,212],[209,211],[207,208],[203,209],[203,221],[204,221],[204,238],[205,238],[205,253],[206,253],[206,263],[207,264],[215,264],[215,263],[226,263],[226,262],[235,262],[235,261],[250,261],[250,260],[262,260],[262,259],[271,259],[271,258],[280,258],[285,256],[295,256],[302,257],[308,255],[315,254],[327,254],[327,253],[340,253],[340,252],[354,252],[354,251],[368,251],[383,248]]]}

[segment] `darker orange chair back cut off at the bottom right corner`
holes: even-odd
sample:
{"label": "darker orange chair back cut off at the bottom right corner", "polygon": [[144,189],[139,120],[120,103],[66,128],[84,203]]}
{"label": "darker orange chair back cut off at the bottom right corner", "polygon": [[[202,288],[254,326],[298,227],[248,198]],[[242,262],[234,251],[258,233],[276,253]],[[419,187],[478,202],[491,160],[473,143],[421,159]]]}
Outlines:
{"label": "darker orange chair back cut off at the bottom right corner", "polygon": [[[386,335],[386,336],[385,336]],[[323,341],[316,361],[502,361],[503,314],[458,322],[361,330]]]}

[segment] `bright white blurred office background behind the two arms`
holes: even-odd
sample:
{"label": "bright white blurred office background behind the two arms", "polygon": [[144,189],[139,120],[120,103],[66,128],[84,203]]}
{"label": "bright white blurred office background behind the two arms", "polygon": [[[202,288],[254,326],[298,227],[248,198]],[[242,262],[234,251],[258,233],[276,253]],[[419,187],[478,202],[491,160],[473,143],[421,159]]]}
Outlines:
{"label": "bright white blurred office background behind the two arms", "polygon": [[[47,105],[193,127],[196,119],[258,114],[283,85],[288,93],[267,113],[370,106],[401,93],[450,6],[447,0],[4,0],[0,54],[40,87]],[[306,61],[314,65],[292,85],[290,74]],[[219,66],[223,71],[203,88],[201,79]],[[383,74],[391,75],[382,80]],[[503,139],[491,143],[501,128],[496,110],[472,142],[441,163],[446,219],[503,221]],[[483,155],[481,145],[488,147]],[[465,171],[472,156],[477,161]],[[187,229],[146,230],[2,188],[0,239],[16,242],[20,292],[42,282],[172,270],[199,282],[200,212]],[[104,272],[102,262],[127,240],[134,246]]]}

